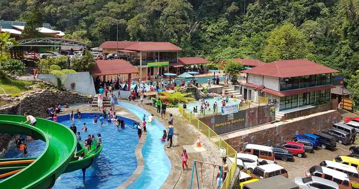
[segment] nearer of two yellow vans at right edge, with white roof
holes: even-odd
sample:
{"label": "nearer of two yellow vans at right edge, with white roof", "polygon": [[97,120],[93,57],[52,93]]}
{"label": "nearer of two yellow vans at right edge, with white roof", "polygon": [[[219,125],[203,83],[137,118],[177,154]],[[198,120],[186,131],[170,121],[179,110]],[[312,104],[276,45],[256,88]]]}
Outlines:
{"label": "nearer of two yellow vans at right edge, with white roof", "polygon": [[359,173],[354,167],[329,160],[322,161],[320,165],[347,174],[351,185],[355,188],[359,187]]}

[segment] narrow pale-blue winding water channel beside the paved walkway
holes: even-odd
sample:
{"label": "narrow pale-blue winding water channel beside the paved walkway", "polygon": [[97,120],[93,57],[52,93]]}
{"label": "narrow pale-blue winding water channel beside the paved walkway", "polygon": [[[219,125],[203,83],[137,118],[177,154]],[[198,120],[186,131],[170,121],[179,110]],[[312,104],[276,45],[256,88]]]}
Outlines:
{"label": "narrow pale-blue winding water channel beside the paved walkway", "polygon": [[[126,102],[118,102],[118,105],[132,111],[137,117],[142,119],[143,114],[150,113],[138,106]],[[132,182],[128,188],[160,188],[165,182],[169,172],[171,171],[171,162],[165,153],[165,143],[159,141],[162,137],[165,126],[155,120],[146,126],[147,138],[142,148],[145,167],[141,175]]]}

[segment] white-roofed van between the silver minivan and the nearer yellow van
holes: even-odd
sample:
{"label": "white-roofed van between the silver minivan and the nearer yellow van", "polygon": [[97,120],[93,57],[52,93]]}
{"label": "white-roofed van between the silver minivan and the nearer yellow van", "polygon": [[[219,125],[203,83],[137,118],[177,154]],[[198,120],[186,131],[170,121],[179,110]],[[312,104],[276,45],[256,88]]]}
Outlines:
{"label": "white-roofed van between the silver minivan and the nearer yellow van", "polygon": [[306,172],[306,176],[316,176],[334,181],[339,185],[340,189],[352,188],[347,174],[326,167],[313,166]]}

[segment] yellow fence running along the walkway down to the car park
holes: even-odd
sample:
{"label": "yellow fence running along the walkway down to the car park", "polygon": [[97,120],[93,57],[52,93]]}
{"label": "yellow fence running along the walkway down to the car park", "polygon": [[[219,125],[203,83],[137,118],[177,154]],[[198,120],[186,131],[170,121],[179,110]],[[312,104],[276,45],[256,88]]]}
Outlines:
{"label": "yellow fence running along the walkway down to the car park", "polygon": [[210,127],[205,123],[201,122],[194,115],[186,112],[181,106],[178,106],[179,113],[184,117],[186,121],[192,124],[197,128],[202,134],[204,134],[211,142],[218,148],[226,149],[227,157],[234,158],[231,167],[228,170],[227,177],[225,178],[222,188],[229,189],[230,183],[234,179],[234,174],[237,168],[237,151],[235,151],[225,140],[223,140],[217,133],[215,133]]}

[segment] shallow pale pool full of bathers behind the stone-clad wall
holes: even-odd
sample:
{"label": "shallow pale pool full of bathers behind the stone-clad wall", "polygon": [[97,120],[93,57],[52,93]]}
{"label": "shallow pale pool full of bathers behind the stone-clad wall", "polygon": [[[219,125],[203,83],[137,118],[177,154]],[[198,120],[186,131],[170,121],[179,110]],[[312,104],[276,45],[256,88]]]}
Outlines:
{"label": "shallow pale pool full of bathers behind the stone-clad wall", "polygon": [[[217,112],[221,113],[221,107],[222,107],[222,100],[221,98],[217,97],[217,98],[210,98],[210,99],[205,99],[205,102],[209,103],[209,108],[207,108],[205,110],[205,114],[213,114],[213,104],[214,102],[217,102]],[[236,100],[234,101],[233,99],[228,99],[228,102],[226,103],[226,106],[233,106],[233,105],[238,105],[240,104],[241,100]],[[183,106],[183,104],[181,104],[181,106]],[[200,114],[200,109],[201,109],[201,102],[200,101],[194,101],[194,102],[189,102],[187,104],[187,111],[188,112],[192,112],[193,113],[193,108],[197,106],[197,111],[198,114]]]}

